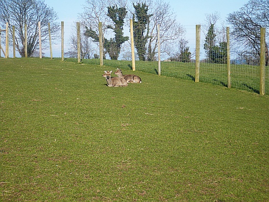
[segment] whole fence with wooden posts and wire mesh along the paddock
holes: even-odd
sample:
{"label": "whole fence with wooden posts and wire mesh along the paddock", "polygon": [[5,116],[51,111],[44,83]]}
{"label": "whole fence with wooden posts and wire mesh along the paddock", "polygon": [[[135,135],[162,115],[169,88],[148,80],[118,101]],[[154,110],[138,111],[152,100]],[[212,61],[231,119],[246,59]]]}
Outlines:
{"label": "whole fence with wooden posts and wire mesh along the paddock", "polygon": [[[216,46],[218,48],[216,50],[204,49],[206,51],[206,53],[204,54],[210,53],[214,56],[214,57],[211,57],[212,55],[210,56],[210,59],[212,61],[205,58],[200,59],[200,56],[202,55],[201,51],[203,50],[201,49],[201,47],[205,46],[204,44],[201,43],[201,32],[200,32],[201,25],[196,25],[196,40],[195,40],[196,48],[195,48],[195,51],[193,51],[193,53],[190,52],[189,47],[188,47],[188,49],[186,49],[185,52],[181,51],[178,54],[173,54],[173,55],[167,54],[165,56],[165,54],[163,54],[164,52],[162,53],[162,44],[160,43],[160,41],[162,41],[162,38],[161,38],[162,36],[158,28],[155,35],[153,34],[151,36],[152,39],[156,37],[157,51],[144,52],[143,54],[144,56],[147,55],[148,60],[141,60],[143,54],[141,54],[141,52],[139,51],[143,51],[143,50],[142,49],[140,50],[137,47],[138,46],[137,41],[134,42],[134,35],[135,35],[134,32],[136,31],[136,34],[137,34],[139,27],[136,27],[135,25],[133,25],[132,20],[130,20],[130,24],[129,24],[130,29],[128,31],[129,32],[128,35],[130,36],[130,39],[126,40],[122,44],[116,43],[118,40],[116,38],[116,34],[113,36],[113,34],[110,33],[110,36],[115,37],[115,38],[113,38],[113,40],[111,40],[112,39],[111,38],[110,41],[107,40],[105,37],[109,36],[109,34],[103,33],[103,29],[101,25],[102,24],[100,23],[99,33],[98,33],[99,40],[96,43],[92,43],[93,40],[89,36],[86,36],[85,27],[82,26],[81,28],[80,23],[76,23],[76,28],[73,27],[73,31],[74,30],[76,31],[76,34],[73,36],[74,38],[76,38],[75,40],[76,47],[74,49],[74,44],[70,45],[70,42],[72,41],[71,39],[64,40],[64,38],[66,37],[64,34],[65,30],[68,30],[68,32],[72,32],[71,25],[68,24],[67,26],[64,27],[64,22],[61,22],[61,59],[75,61],[75,58],[76,58],[77,62],[82,61],[83,63],[108,65],[115,68],[120,67],[122,69],[132,69],[133,71],[137,69],[139,71],[145,71],[145,72],[158,74],[158,75],[161,75],[161,72],[162,72],[162,75],[164,76],[174,76],[178,78],[194,80],[195,82],[208,82],[208,83],[213,83],[217,85],[223,85],[228,88],[231,88],[231,87],[239,88],[243,90],[256,92],[261,95],[269,94],[268,92],[269,68],[267,68],[268,66],[265,66],[265,54],[264,54],[266,51],[264,48],[266,46],[265,28],[261,29],[261,45],[260,45],[261,57],[259,58],[259,66],[258,66],[257,61],[253,60],[253,58],[252,59],[250,58],[250,60],[247,61],[246,58],[237,57],[235,56],[234,53],[230,51],[230,46],[231,46],[230,44],[233,44],[234,42],[230,43],[229,27],[226,27],[225,33],[224,31],[220,33],[220,35],[226,36],[225,38],[226,41],[224,41],[226,43],[226,48],[224,46],[221,46],[221,47]],[[161,25],[158,25],[158,27],[160,26]],[[5,30],[0,29],[0,33],[5,31],[6,36],[8,36],[9,35],[8,25],[6,25],[6,27],[7,28]],[[195,30],[195,29],[192,28],[192,30]],[[26,27],[25,27],[24,33],[26,36],[27,35]],[[50,35],[50,30],[48,30],[48,33]],[[39,34],[39,37],[41,37],[40,34]],[[71,37],[71,35],[69,37]],[[85,37],[86,37],[86,40],[83,39]],[[89,43],[92,43],[90,47],[87,47],[88,49],[87,51],[83,51],[83,49],[86,50],[85,48],[86,42],[83,40],[85,41],[88,40]],[[0,47],[0,51],[2,50],[5,57],[9,57],[8,41],[9,41],[8,37],[6,37],[6,43],[5,43],[6,53],[4,52],[2,46]],[[25,42],[26,41],[27,41],[27,38],[25,37]],[[39,41],[41,42],[41,38],[39,38]],[[113,48],[114,46],[115,50],[114,51],[108,50],[109,48],[107,44],[105,43],[110,43],[111,47]],[[154,49],[153,43],[150,44],[148,41],[146,41],[145,44],[149,48]],[[27,43],[25,43],[25,45],[27,45]],[[39,57],[42,58],[44,52],[42,52],[41,43],[39,45],[40,45]],[[54,42],[54,45],[55,45],[55,42]],[[117,46],[120,46],[119,50],[117,49]],[[69,47],[69,50],[72,50],[72,51],[66,52],[66,47]],[[97,48],[99,50],[99,55],[96,54]],[[224,51],[221,50],[222,48]],[[24,49],[27,50],[27,47],[25,46]],[[51,37],[49,36],[50,58],[53,58],[52,49],[55,50],[55,48],[52,47]],[[216,52],[216,51],[219,51],[219,52]],[[72,52],[76,54],[72,54]],[[221,55],[223,54],[223,52],[225,52],[226,54],[224,55],[225,57]],[[25,51],[25,56],[27,57],[26,53],[27,51]],[[69,55],[67,55],[67,53],[69,53]],[[196,54],[196,53],[199,53],[199,54]],[[116,54],[116,57],[117,57],[116,60],[110,58],[110,57],[114,57],[115,56],[114,54]],[[156,55],[156,57],[154,56],[154,54]],[[195,60],[192,59],[194,56],[195,56]],[[14,28],[13,28],[13,57],[15,57]],[[162,60],[161,60],[161,57],[162,57]],[[165,59],[165,57],[167,59]],[[106,58],[110,58],[110,59],[106,59]],[[118,58],[121,58],[121,60],[119,60]]]}

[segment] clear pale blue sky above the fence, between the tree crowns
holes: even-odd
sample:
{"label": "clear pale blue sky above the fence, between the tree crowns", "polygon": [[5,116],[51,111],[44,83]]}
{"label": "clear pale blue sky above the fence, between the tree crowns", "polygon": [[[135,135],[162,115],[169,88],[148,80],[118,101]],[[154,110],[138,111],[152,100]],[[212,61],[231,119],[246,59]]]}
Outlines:
{"label": "clear pale blue sky above the fence, between the tree crowns", "polygon": [[[238,11],[249,0],[165,0],[177,15],[181,25],[202,24],[205,14],[220,13],[221,20],[233,11]],[[73,23],[77,14],[82,13],[85,0],[45,0],[45,3],[58,14],[59,21]]]}

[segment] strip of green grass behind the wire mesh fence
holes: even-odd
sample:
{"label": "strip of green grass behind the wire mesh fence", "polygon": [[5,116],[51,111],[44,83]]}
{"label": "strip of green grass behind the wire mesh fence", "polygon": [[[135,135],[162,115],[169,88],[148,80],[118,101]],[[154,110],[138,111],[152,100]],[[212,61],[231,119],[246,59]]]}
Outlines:
{"label": "strip of green grass behind the wire mesh fence", "polygon": [[[57,58],[60,59],[60,58]],[[76,58],[65,58],[67,61],[77,62]],[[83,59],[86,64],[99,64],[99,59]],[[131,61],[104,60],[104,65],[114,69],[132,69]],[[136,61],[136,70],[158,75],[158,61]],[[195,63],[161,62],[161,75],[186,80],[195,80]],[[254,93],[260,93],[260,66],[231,64],[231,87]],[[199,81],[213,85],[228,86],[227,64],[200,63]],[[265,89],[269,95],[269,68],[265,68]]]}

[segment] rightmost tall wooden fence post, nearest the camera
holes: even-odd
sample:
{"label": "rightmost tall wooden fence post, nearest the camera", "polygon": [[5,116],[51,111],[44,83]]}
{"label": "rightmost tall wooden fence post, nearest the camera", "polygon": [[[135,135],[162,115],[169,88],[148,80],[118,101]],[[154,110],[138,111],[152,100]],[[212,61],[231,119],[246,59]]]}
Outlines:
{"label": "rightmost tall wooden fence post, nearest the camera", "polygon": [[260,95],[265,95],[265,28],[261,27]]}

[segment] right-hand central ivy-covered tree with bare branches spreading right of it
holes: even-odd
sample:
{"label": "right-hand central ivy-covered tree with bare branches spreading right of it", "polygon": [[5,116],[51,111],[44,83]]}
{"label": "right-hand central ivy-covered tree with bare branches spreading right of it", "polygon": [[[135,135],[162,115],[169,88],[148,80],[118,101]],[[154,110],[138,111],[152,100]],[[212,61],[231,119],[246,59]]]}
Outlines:
{"label": "right-hand central ivy-covered tree with bare branches spreading right of it", "polygon": [[156,60],[157,25],[160,25],[161,54],[173,55],[174,45],[182,40],[185,29],[176,21],[176,15],[170,4],[163,0],[156,0],[153,3],[147,0],[144,3],[133,3],[133,7],[134,25],[137,25],[140,30],[134,33],[138,39],[136,49],[140,54],[140,60]]}

